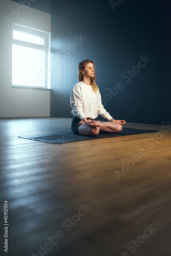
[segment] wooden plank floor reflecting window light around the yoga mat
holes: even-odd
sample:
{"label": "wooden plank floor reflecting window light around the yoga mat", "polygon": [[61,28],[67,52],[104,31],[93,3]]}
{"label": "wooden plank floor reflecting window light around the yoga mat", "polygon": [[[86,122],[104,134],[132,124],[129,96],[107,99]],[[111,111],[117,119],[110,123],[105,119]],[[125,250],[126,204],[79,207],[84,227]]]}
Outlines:
{"label": "wooden plank floor reflecting window light around the yoga mat", "polygon": [[65,144],[17,137],[71,120],[0,120],[1,255],[171,255],[171,126],[127,123],[159,132]]}

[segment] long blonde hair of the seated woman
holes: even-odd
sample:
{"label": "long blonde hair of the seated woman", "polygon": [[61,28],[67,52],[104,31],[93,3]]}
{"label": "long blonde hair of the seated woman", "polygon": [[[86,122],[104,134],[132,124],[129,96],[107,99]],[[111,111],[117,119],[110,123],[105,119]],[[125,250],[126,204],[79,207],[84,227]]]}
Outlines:
{"label": "long blonde hair of the seated woman", "polygon": [[[91,60],[91,59],[86,59],[86,60],[80,61],[79,64],[78,64],[78,80],[79,80],[79,82],[81,82],[82,79],[83,79],[83,74],[80,72],[80,70],[84,70],[84,69],[86,68],[86,65],[87,65],[88,63],[92,63],[93,66],[94,66],[94,69],[95,69],[95,65],[94,65],[93,60]],[[96,92],[99,92],[98,86],[97,86],[97,84],[96,84],[96,74],[95,74],[95,71],[94,71],[94,77],[91,77],[91,78],[90,78],[90,84],[91,84],[92,89],[93,89],[93,91],[94,91],[95,93],[96,93]]]}

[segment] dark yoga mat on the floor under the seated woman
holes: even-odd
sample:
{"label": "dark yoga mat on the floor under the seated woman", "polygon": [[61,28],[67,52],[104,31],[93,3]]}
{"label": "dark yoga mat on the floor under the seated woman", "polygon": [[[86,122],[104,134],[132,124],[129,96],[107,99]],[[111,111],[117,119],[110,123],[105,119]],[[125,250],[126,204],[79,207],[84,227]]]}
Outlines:
{"label": "dark yoga mat on the floor under the seated woman", "polygon": [[73,134],[72,131],[66,132],[56,132],[56,133],[40,133],[40,134],[30,134],[30,135],[22,135],[18,136],[19,138],[29,139],[29,140],[37,140],[41,142],[47,142],[52,144],[62,144],[68,142],[82,141],[82,140],[97,140],[103,138],[113,138],[120,136],[128,136],[128,135],[136,135],[136,134],[144,134],[144,133],[156,133],[159,131],[154,130],[140,130],[133,128],[124,128],[120,133],[100,133],[98,136],[83,136]]}

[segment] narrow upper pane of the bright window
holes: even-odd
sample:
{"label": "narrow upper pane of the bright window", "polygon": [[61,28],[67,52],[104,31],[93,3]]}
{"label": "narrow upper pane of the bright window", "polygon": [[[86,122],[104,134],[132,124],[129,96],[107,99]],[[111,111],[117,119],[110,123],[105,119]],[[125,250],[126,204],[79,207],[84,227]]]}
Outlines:
{"label": "narrow upper pane of the bright window", "polygon": [[43,36],[30,35],[28,33],[19,32],[16,30],[13,30],[13,39],[17,39],[25,42],[32,42],[33,44],[42,45],[42,46],[44,46],[45,44]]}

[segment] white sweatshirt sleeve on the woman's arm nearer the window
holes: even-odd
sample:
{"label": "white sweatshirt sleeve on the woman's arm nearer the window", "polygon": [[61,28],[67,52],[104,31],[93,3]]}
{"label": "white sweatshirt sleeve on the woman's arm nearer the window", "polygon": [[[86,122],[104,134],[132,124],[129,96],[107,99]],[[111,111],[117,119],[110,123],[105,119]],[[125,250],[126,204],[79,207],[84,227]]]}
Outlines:
{"label": "white sweatshirt sleeve on the woman's arm nearer the window", "polygon": [[83,114],[82,95],[80,86],[75,86],[73,88],[70,96],[70,105],[72,108],[71,113],[74,116],[79,117],[81,120],[82,118],[86,117]]}

